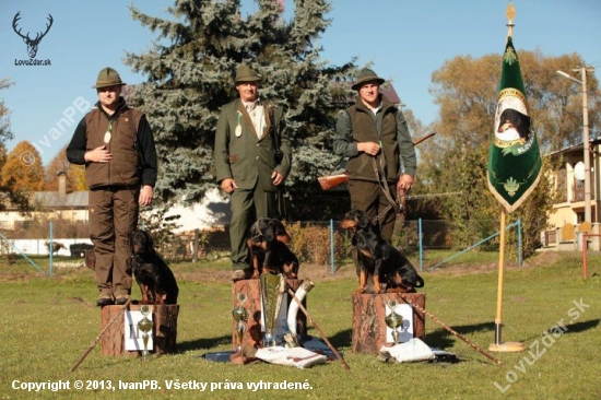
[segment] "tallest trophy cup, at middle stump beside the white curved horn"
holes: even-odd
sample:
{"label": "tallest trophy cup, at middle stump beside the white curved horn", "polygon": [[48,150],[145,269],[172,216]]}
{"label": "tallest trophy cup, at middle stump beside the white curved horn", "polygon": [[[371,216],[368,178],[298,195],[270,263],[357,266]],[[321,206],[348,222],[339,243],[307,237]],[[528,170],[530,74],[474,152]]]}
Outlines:
{"label": "tallest trophy cup, at middle stump beside the white curved horn", "polygon": [[266,348],[275,345],[275,327],[278,323],[278,316],[280,315],[280,308],[282,307],[285,284],[286,280],[281,273],[276,275],[263,273],[261,275],[262,317],[266,327],[263,345]]}

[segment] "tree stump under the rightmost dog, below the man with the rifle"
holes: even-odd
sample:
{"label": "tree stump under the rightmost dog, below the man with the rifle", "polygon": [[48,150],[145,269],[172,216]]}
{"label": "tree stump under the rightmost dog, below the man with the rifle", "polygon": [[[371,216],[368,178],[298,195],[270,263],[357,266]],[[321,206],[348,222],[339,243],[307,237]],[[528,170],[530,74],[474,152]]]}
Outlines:
{"label": "tree stump under the rightmost dog, below the man with the rifle", "polygon": [[[424,293],[403,293],[422,308],[425,308]],[[398,293],[358,294],[353,293],[353,339],[354,353],[379,353],[386,344],[386,304],[394,299],[398,304],[408,304]],[[424,339],[425,315],[413,308],[413,337]]]}

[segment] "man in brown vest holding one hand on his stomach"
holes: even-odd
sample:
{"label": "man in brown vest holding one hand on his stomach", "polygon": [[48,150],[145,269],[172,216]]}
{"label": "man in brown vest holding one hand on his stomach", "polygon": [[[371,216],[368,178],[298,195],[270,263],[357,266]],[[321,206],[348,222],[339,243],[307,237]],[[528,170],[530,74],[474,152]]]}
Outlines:
{"label": "man in brown vest holding one hand on his stomach", "polygon": [[152,203],[156,150],[145,116],[120,96],[125,83],[113,68],[98,73],[98,103],[78,125],[67,148],[72,164],[85,165],[90,188],[90,236],[96,257],[97,306],[126,304],[131,293],[128,235],[139,207]]}

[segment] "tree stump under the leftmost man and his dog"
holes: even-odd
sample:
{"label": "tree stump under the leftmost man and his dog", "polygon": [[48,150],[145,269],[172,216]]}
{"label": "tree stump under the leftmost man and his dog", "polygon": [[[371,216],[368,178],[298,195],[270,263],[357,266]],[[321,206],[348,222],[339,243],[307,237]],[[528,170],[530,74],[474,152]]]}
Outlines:
{"label": "tree stump under the leftmost man and his dog", "polygon": [[[130,305],[130,311],[139,311],[141,305]],[[177,339],[177,316],[179,305],[161,305],[152,307],[153,343],[155,354],[175,353]],[[123,306],[105,306],[102,309],[102,329],[121,311]],[[104,355],[138,355],[139,351],[127,351],[125,345],[125,316],[121,313],[106,330],[101,341]],[[150,349],[150,351],[152,351]]]}

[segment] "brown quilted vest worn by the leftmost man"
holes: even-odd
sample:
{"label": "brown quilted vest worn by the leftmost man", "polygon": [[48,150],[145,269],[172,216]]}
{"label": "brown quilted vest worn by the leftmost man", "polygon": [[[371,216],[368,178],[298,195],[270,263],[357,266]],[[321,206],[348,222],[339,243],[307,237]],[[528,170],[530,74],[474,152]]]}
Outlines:
{"label": "brown quilted vest worn by the leftmost man", "polygon": [[[140,186],[139,158],[135,149],[138,126],[142,113],[125,106],[113,119],[110,142],[106,145],[113,154],[109,163],[89,163],[85,167],[85,183],[90,189],[102,186]],[[108,118],[98,108],[85,115],[86,150],[104,145]]]}

